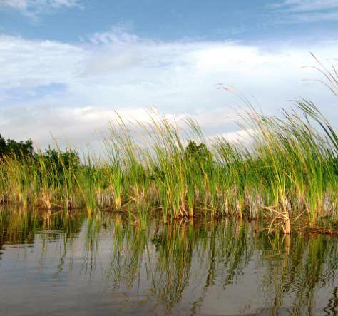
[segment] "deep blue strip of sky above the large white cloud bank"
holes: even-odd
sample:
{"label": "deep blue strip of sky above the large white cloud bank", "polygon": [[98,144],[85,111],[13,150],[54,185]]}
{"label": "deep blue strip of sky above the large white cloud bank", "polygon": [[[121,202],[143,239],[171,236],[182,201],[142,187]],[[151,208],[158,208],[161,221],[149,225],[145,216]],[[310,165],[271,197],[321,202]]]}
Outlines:
{"label": "deep blue strip of sky above the large white cloud bank", "polygon": [[130,33],[164,41],[297,39],[334,35],[338,18],[337,1],[329,0],[2,0],[0,3],[3,33],[67,42],[117,25]]}

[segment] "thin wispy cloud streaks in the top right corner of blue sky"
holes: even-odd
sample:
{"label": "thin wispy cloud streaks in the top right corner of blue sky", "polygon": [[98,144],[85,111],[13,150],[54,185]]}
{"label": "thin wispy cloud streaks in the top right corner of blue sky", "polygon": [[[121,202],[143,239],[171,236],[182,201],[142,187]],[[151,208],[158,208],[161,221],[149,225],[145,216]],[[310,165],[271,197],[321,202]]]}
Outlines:
{"label": "thin wispy cloud streaks in the top right corner of blue sky", "polygon": [[283,0],[268,6],[279,21],[310,23],[338,20],[338,0]]}

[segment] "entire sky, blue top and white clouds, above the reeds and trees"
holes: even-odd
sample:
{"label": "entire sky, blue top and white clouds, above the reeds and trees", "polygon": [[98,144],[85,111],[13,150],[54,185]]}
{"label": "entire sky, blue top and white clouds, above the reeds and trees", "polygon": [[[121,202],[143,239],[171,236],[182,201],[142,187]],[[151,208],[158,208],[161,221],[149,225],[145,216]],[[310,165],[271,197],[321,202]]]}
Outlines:
{"label": "entire sky, blue top and white clouds, above the reeds and trees", "polygon": [[337,63],[337,26],[338,0],[0,0],[0,133],[95,147],[116,111],[153,108],[232,140],[245,104],[219,83],[273,115],[308,98],[334,123],[310,52]]}

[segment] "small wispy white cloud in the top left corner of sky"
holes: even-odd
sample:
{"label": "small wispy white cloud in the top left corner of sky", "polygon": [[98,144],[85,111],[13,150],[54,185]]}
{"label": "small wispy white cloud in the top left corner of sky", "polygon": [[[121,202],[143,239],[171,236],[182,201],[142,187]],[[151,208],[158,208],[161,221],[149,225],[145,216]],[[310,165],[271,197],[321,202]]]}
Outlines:
{"label": "small wispy white cloud in the top left corner of sky", "polygon": [[43,12],[62,7],[82,7],[82,4],[80,0],[0,0],[0,9],[18,10],[33,19]]}

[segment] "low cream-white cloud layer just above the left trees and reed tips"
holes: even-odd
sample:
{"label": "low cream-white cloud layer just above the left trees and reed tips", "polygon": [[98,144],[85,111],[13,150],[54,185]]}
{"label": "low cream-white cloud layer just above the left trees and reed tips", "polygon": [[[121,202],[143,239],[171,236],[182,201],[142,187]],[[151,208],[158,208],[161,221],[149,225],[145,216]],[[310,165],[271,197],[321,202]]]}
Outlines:
{"label": "low cream-white cloud layer just above the left trees and reed tips", "polygon": [[[232,113],[231,120],[237,116]],[[153,123],[160,117],[167,119],[170,123],[188,128],[187,118],[192,118],[200,123],[202,127],[222,126],[230,122],[227,118],[229,110],[209,110],[197,114],[160,113],[157,108],[120,108],[117,110],[109,108],[93,108],[91,106],[81,108],[50,108],[48,106],[25,107],[16,106],[11,108],[0,108],[0,131],[5,131],[5,138],[26,139],[32,138],[36,148],[46,148],[53,139],[60,146],[71,146],[78,150],[86,148],[86,144],[98,147],[101,136],[108,135],[110,123],[120,121],[126,122],[129,128],[138,130],[138,122]],[[238,117],[238,116],[237,116]],[[31,132],[29,132],[31,131]],[[234,133],[235,135],[235,133]]]}

